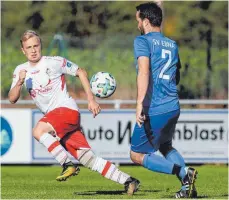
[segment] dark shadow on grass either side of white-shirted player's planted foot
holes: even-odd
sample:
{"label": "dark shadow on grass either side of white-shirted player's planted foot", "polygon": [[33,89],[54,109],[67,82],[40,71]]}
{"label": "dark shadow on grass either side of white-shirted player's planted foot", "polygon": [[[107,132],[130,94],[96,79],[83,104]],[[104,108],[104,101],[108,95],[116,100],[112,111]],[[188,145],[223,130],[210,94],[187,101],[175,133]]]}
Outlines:
{"label": "dark shadow on grass either side of white-shirted player's planted foot", "polygon": [[[139,190],[136,192],[134,195],[136,196],[142,196],[145,194],[141,193],[152,193],[152,192],[161,192],[162,190]],[[125,195],[126,192],[123,190],[111,190],[111,191],[104,191],[104,190],[99,190],[99,191],[85,191],[85,192],[74,192],[74,195],[82,195],[82,196],[92,196],[92,195]]]}

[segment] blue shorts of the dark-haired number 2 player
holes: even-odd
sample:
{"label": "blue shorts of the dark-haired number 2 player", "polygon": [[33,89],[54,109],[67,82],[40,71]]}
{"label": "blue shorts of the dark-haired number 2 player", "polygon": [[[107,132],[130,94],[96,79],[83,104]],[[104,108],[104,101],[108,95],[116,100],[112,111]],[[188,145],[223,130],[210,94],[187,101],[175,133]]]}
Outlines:
{"label": "blue shorts of the dark-haired number 2 player", "polygon": [[161,144],[171,142],[180,110],[146,116],[141,127],[135,124],[131,137],[131,150],[138,153],[152,153],[159,149]]}

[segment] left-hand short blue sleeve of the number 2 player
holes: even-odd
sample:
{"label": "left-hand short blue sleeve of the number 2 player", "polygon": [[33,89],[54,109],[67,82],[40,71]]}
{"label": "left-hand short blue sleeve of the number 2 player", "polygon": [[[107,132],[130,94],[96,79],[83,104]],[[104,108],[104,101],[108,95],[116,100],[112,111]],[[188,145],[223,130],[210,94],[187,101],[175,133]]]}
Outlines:
{"label": "left-hand short blue sleeve of the number 2 player", "polygon": [[138,59],[140,56],[150,57],[150,48],[147,39],[136,37],[134,40],[134,55]]}

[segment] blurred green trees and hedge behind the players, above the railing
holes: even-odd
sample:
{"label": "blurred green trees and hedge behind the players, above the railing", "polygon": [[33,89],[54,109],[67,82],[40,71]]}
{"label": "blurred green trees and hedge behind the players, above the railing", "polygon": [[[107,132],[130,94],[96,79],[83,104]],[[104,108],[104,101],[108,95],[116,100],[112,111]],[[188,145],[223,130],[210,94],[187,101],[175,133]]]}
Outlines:
{"label": "blurred green trees and hedge behind the players, above the railing", "polygon": [[[15,67],[26,62],[20,37],[27,29],[43,39],[44,55],[61,55],[88,70],[108,71],[117,80],[113,99],[135,99],[133,40],[139,35],[136,1],[2,1],[1,95],[7,98]],[[179,44],[182,99],[228,97],[228,2],[165,1],[163,33]],[[51,49],[56,34],[66,50]],[[55,38],[58,38],[55,36]],[[63,45],[63,44],[62,44]],[[75,98],[85,98],[79,80],[68,77]],[[29,98],[23,91],[22,98]]]}

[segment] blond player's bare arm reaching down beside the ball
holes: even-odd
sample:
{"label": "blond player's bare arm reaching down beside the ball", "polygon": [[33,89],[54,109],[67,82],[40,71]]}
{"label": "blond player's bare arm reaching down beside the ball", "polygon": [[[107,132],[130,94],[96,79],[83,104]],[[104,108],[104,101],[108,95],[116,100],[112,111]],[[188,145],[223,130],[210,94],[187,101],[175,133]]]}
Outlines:
{"label": "blond player's bare arm reaching down beside the ball", "polygon": [[90,83],[88,81],[88,76],[87,76],[87,72],[82,69],[79,68],[77,70],[76,76],[79,77],[84,91],[87,95],[87,100],[88,100],[88,110],[90,110],[93,113],[93,117],[95,117],[96,115],[98,115],[101,111],[101,108],[99,106],[99,104],[95,101],[94,95],[91,92],[91,87],[90,87]]}

